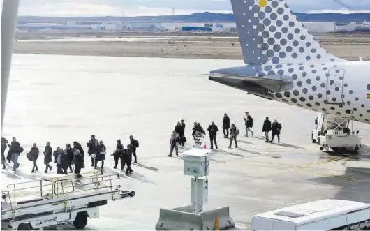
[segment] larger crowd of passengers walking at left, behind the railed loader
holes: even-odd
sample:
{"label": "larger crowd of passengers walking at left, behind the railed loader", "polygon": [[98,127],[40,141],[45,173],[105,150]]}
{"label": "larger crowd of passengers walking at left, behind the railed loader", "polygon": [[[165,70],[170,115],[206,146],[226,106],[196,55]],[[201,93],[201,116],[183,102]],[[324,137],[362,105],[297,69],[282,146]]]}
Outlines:
{"label": "larger crowd of passengers walking at left, behind the railed loader", "polygon": [[[99,142],[96,139],[95,135],[91,135],[91,140],[89,140],[89,142],[87,143],[87,147],[88,147],[87,153],[91,157],[91,166],[97,168],[98,161],[101,161],[101,168],[103,169],[105,154],[107,150],[105,144],[103,144],[103,141],[101,140]],[[132,135],[130,135],[130,144],[128,145],[128,147],[130,150],[129,151],[130,156],[131,154],[133,154],[133,156],[135,157],[134,163],[137,163],[136,148],[139,147],[139,142],[138,140],[135,140]],[[5,156],[5,151],[7,148],[9,148],[8,155]],[[20,143],[17,142],[15,137],[13,137],[12,142],[10,144],[8,144],[8,140],[6,140],[6,138],[1,137],[1,163],[3,165],[3,169],[6,168],[6,160],[8,160],[9,163],[13,162],[13,171],[16,171],[17,168],[20,167],[18,157],[23,151],[24,149],[21,147]],[[66,144],[65,149],[57,147],[57,149],[55,149],[54,151],[50,146],[50,142],[47,142],[43,154],[44,154],[45,173],[50,172],[52,170],[53,167],[52,165],[50,165],[50,163],[53,162],[54,156],[54,163],[57,167],[57,174],[68,174],[69,168],[69,173],[74,172],[75,174],[77,174],[77,178],[80,177],[81,169],[84,168],[84,149],[82,148],[82,145],[79,142],[77,141],[73,142],[73,147],[71,147],[71,144]],[[32,161],[33,163],[31,173],[38,172],[37,160],[39,155],[40,150],[37,147],[37,144],[36,143],[32,144],[30,151],[27,152],[26,154],[27,159],[29,161]],[[131,158],[125,158],[125,163],[128,166],[129,159],[131,160]],[[123,167],[121,168],[123,169]]]}

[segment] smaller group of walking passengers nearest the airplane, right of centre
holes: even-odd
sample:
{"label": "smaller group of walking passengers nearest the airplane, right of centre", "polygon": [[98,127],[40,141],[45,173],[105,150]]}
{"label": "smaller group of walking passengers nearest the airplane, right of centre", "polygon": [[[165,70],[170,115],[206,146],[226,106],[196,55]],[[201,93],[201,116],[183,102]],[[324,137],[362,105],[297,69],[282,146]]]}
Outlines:
{"label": "smaller group of walking passengers nearest the airplane, right of centre", "polygon": [[[245,112],[244,119],[244,125],[246,128],[246,137],[249,137],[249,134],[253,136],[253,118],[249,114],[249,112]],[[185,124],[184,119],[182,119],[181,122],[178,122],[178,124],[175,126],[174,131],[172,131],[171,137],[170,137],[170,154],[168,156],[172,156],[173,151],[176,151],[176,156],[179,155],[179,145],[184,146],[184,140],[186,142],[186,137],[184,137],[184,131],[185,131]],[[216,124],[212,121],[212,124],[208,126],[207,129],[209,133],[209,141],[211,144],[211,149],[217,146],[217,132],[219,131],[219,128],[216,126]],[[232,146],[232,142],[235,143],[235,147],[237,147],[237,135],[239,135],[239,129],[235,126],[235,124],[230,125],[230,117],[228,117],[228,114],[223,114],[223,121],[222,121],[222,131],[223,131],[223,137],[225,139],[230,139],[229,148]],[[269,140],[269,131],[272,131],[272,139]],[[278,142],[280,142],[280,131],[281,131],[281,124],[275,119],[273,123],[269,121],[269,117],[266,117],[263,126],[262,126],[262,135],[265,136],[266,142],[273,142],[274,137],[277,136]],[[230,132],[230,133],[229,133]],[[194,147],[202,147],[204,137],[206,135],[205,130],[202,128],[202,126],[198,122],[194,122],[193,126],[193,132],[191,133],[194,139]],[[229,137],[230,135],[230,137]]]}

